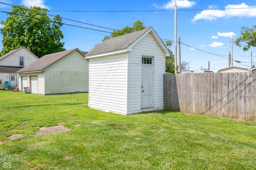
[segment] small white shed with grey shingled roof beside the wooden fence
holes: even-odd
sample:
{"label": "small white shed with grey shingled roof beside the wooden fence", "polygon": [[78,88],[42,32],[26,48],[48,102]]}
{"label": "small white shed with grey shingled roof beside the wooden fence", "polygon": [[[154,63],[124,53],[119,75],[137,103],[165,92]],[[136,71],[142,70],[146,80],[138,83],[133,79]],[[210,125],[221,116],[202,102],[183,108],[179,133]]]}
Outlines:
{"label": "small white shed with grey shingled roof beside the wooden fence", "polygon": [[123,115],[162,110],[167,56],[168,49],[152,27],[96,45],[85,55],[88,106]]}

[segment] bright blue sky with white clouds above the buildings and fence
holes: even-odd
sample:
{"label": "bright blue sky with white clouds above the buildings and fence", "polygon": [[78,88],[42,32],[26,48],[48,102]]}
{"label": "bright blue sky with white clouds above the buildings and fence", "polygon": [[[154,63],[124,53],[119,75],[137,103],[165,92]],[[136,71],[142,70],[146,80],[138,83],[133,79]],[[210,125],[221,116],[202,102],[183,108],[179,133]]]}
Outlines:
{"label": "bright blue sky with white clouds above the buildings and fence", "polygon": [[[65,24],[94,29],[62,26],[61,30],[64,34],[62,42],[65,43],[66,49],[78,47],[81,51],[88,51],[94,45],[101,43],[105,35],[110,34],[106,32],[113,31],[106,28],[122,29],[125,26],[132,26],[136,20],[142,21],[144,26],[152,26],[160,38],[174,41],[174,1],[172,0],[0,0],[0,2],[48,8],[50,10],[48,14],[59,14],[63,18],[87,23],[63,19],[62,22]],[[208,68],[208,61],[210,61],[210,69],[214,72],[228,67],[231,35],[233,34],[236,40],[240,36],[242,26],[252,28],[256,24],[255,0],[176,0],[176,4],[177,40],[180,37],[182,42],[181,61],[189,63],[190,70]],[[0,8],[1,11],[10,11],[11,6],[0,4]],[[90,12],[64,12],[65,10]],[[0,12],[1,21],[6,20],[6,17],[4,12]],[[2,36],[0,40],[2,41]],[[171,50],[174,52],[174,45]],[[255,62],[253,64],[256,66],[256,48],[252,47],[244,52],[242,47],[234,44],[233,59],[241,62],[233,61],[233,65],[250,68],[251,52]]]}

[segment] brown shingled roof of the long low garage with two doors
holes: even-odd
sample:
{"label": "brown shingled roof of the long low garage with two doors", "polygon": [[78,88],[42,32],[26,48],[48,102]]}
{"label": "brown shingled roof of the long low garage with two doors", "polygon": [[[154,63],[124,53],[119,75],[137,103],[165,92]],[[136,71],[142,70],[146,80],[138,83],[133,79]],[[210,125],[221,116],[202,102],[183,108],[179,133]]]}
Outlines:
{"label": "brown shingled roof of the long low garage with two doors", "polygon": [[56,61],[60,60],[62,57],[65,57],[69,53],[72,53],[73,51],[76,51],[76,50],[79,53],[81,53],[81,55],[84,56],[84,54],[78,48],[70,49],[70,50],[66,50],[66,51],[60,51],[58,53],[52,53],[52,54],[44,55],[40,59],[31,63],[30,65],[20,69],[19,71],[17,71],[17,73],[32,72],[32,71],[43,71],[44,69],[46,69],[46,67],[52,65]]}

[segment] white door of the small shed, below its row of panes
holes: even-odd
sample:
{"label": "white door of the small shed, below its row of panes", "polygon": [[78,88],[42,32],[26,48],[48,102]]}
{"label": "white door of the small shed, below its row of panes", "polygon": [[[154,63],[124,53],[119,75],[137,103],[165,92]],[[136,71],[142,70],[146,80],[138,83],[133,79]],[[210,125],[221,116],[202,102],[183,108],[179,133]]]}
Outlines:
{"label": "white door of the small shed, below its row of panes", "polygon": [[154,67],[142,66],[141,108],[153,107],[154,103]]}

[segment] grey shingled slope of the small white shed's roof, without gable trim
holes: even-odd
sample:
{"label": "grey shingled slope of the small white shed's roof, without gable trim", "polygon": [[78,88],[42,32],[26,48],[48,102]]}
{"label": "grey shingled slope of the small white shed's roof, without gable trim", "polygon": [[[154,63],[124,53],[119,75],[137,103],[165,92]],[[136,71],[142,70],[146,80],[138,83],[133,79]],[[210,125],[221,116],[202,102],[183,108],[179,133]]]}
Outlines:
{"label": "grey shingled slope of the small white shed's roof, without gable trim", "polygon": [[[150,27],[150,28],[152,28],[152,27]],[[133,43],[135,40],[137,40],[140,36],[142,36],[146,31],[148,31],[150,28],[146,28],[146,29],[132,32],[129,34],[125,34],[122,36],[107,39],[104,42],[92,47],[88,51],[88,53],[86,53],[85,56],[96,55],[96,54],[100,54],[100,53],[107,53],[107,52],[125,49],[131,43]]]}

